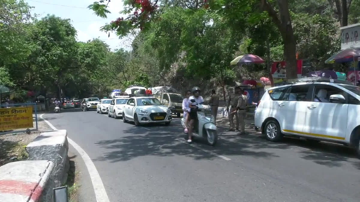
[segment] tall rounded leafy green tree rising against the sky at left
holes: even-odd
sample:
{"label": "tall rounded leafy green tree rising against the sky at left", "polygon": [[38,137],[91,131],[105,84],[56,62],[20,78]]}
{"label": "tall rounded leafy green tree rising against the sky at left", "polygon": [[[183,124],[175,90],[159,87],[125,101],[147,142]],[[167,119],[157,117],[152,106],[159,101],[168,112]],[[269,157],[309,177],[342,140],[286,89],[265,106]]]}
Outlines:
{"label": "tall rounded leafy green tree rising against the sky at left", "polygon": [[76,65],[76,30],[69,19],[48,15],[35,20],[26,32],[30,54],[12,64],[9,73],[16,85],[25,89],[39,89],[46,96],[50,89],[59,90]]}

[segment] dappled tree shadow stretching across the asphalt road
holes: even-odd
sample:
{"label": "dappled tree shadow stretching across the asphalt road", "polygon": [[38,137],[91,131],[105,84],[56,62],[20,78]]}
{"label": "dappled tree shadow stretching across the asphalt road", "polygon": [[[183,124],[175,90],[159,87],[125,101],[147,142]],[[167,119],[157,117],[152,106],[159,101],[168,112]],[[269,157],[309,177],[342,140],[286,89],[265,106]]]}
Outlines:
{"label": "dappled tree shadow stretching across the asphalt road", "polygon": [[[125,129],[123,133],[128,134],[128,136],[95,143],[109,149],[109,152],[104,153],[103,157],[96,160],[117,162],[131,160],[139,156],[174,155],[185,155],[195,160],[216,158],[204,151],[181,143],[185,135],[182,133],[180,125],[179,121],[173,121],[170,127],[162,124],[149,124],[144,125],[144,127],[151,128],[151,130],[144,131],[140,127]],[[339,144],[323,142],[310,144],[302,139],[286,137],[282,142],[269,142],[265,137],[258,134],[220,136],[219,144],[215,147],[206,145],[205,140],[201,138],[196,138],[194,144],[230,158],[231,156],[252,156],[271,159],[280,157],[279,149],[283,150],[280,152],[291,150],[291,152],[298,153],[301,158],[317,164],[334,167],[350,162],[357,169],[360,169],[360,162],[356,159],[354,150]],[[294,147],[296,148],[293,149]]]}

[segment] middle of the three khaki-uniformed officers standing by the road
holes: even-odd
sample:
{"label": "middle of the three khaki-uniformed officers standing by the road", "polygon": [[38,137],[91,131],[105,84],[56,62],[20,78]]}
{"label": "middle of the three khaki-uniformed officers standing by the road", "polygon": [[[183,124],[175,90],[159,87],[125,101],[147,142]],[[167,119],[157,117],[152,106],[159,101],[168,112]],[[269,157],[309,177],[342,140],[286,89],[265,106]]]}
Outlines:
{"label": "middle of the three khaki-uniformed officers standing by the road", "polygon": [[[239,131],[239,118],[238,118],[238,113],[236,113],[236,107],[238,106],[239,89],[240,87],[235,86],[234,93],[230,93],[228,98],[228,107],[226,108],[226,110],[229,113],[230,131],[237,131],[237,132]],[[234,116],[236,119],[236,128],[234,127]]]}

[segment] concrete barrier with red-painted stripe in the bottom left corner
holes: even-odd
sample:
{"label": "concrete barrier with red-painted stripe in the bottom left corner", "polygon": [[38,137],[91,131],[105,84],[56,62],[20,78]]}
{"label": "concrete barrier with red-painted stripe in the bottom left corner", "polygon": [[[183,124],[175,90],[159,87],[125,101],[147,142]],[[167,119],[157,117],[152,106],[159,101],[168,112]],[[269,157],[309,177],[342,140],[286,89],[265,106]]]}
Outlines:
{"label": "concrete barrier with red-painted stripe in the bottom left corner", "polygon": [[51,161],[17,161],[0,167],[0,202],[53,201]]}

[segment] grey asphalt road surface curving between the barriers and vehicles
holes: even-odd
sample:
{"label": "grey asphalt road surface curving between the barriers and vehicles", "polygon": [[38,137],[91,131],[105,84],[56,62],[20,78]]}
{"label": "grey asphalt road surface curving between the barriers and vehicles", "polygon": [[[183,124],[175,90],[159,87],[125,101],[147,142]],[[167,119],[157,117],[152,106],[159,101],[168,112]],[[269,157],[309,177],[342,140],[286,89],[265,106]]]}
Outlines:
{"label": "grey asphalt road surface curving between the barriers and vehicles", "polygon": [[[112,202],[360,198],[360,160],[338,144],[311,146],[294,138],[272,143],[255,132],[238,136],[220,128],[217,146],[201,140],[190,146],[176,118],[170,126],[135,127],[96,111],[65,110],[43,117],[57,129],[66,129],[86,151]],[[95,201],[86,167],[83,162],[80,166],[83,201]]]}

